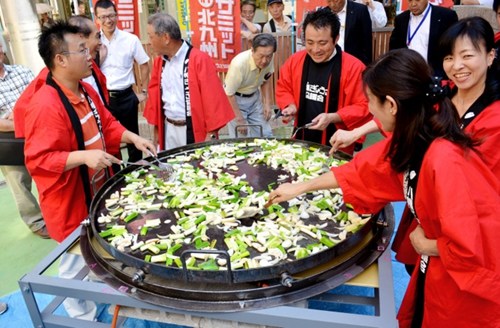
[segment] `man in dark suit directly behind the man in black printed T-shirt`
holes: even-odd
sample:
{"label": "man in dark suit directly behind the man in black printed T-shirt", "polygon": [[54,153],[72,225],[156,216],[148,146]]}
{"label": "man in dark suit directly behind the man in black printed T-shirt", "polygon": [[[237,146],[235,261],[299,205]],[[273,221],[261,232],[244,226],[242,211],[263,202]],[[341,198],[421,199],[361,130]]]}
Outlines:
{"label": "man in dark suit directly behind the man in black printed T-shirt", "polygon": [[365,5],[350,0],[328,0],[340,19],[338,45],[365,65],[372,61],[372,21]]}

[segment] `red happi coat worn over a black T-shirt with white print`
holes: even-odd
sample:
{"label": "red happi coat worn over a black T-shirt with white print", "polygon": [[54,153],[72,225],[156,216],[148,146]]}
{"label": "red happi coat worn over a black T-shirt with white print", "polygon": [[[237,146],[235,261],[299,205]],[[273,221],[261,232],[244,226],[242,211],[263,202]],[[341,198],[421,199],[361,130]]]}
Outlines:
{"label": "red happi coat worn over a black T-shirt with white print", "polygon": [[[281,66],[279,79],[276,84],[276,103],[283,109],[290,104],[297,106],[295,125],[297,125],[298,108],[300,104],[300,91],[302,87],[302,71],[307,52],[299,51],[292,55]],[[340,88],[337,114],[342,118],[341,123],[335,124],[337,129],[352,130],[369,122],[373,116],[368,111],[368,100],[363,93],[361,72],[365,65],[354,56],[342,52],[342,65],[340,69]],[[330,86],[328,96],[330,95]],[[329,97],[325,100],[325,113],[328,112]],[[323,131],[322,143],[327,144],[326,129]],[[364,140],[364,139],[363,139]],[[354,145],[341,149],[352,154]]]}

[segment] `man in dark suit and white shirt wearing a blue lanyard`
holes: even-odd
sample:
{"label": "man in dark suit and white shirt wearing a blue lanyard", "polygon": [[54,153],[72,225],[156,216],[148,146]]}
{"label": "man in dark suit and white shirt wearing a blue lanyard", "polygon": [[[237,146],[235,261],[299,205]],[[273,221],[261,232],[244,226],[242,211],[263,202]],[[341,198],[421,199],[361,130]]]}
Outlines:
{"label": "man in dark suit and white shirt wearing a blue lanyard", "polygon": [[457,14],[447,8],[433,6],[428,0],[409,0],[408,10],[396,16],[389,49],[409,48],[419,52],[433,68],[436,76],[444,76],[439,58],[439,38],[458,21]]}

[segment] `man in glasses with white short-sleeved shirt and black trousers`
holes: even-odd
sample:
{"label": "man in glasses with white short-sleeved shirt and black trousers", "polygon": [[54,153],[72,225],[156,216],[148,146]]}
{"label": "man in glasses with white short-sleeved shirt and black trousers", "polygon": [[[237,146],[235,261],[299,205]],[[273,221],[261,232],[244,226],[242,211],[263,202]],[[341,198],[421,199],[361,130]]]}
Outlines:
{"label": "man in glasses with white short-sleeved shirt and black trousers", "polygon": [[[116,27],[118,16],[116,7],[110,0],[99,0],[95,4],[95,14],[101,25],[102,43],[108,49],[108,55],[101,64],[109,90],[109,110],[128,130],[139,133],[138,106],[147,97],[149,83],[149,57],[141,41],[134,34]],[[140,66],[140,89],[135,94],[134,61]],[[129,161],[142,158],[142,153],[133,146],[127,146]]]}

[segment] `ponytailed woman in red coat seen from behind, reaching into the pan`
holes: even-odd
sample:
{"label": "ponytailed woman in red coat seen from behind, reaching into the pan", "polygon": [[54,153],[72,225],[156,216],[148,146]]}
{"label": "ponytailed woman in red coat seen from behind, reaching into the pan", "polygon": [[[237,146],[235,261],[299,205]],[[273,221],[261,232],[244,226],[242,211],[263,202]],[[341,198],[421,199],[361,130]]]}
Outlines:
{"label": "ponytailed woman in red coat seen from behind, reaching into the pan", "polygon": [[410,280],[400,327],[500,326],[500,185],[476,152],[478,142],[460,128],[418,53],[389,52],[363,82],[370,111],[392,137],[321,177],[281,185],[270,199],[340,187],[359,213],[406,199],[420,224],[412,243],[421,270]]}

